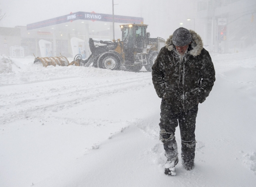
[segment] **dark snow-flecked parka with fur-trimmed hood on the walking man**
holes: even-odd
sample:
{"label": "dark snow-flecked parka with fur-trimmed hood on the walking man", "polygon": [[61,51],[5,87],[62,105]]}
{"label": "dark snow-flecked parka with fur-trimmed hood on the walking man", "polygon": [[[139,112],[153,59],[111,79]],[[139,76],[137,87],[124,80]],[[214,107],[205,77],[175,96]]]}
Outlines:
{"label": "dark snow-flecked parka with fur-trimmed hood on the walking man", "polygon": [[156,93],[175,113],[204,102],[215,81],[214,65],[201,37],[189,32],[193,39],[187,53],[181,56],[176,51],[171,35],[152,66]]}

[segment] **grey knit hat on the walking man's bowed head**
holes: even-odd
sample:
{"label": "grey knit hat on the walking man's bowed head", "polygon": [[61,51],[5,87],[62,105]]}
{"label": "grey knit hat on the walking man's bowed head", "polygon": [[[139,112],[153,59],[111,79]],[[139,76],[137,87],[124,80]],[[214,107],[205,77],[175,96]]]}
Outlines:
{"label": "grey knit hat on the walking man's bowed head", "polygon": [[192,41],[191,33],[188,29],[180,27],[176,29],[172,36],[172,43],[176,46],[185,46]]}

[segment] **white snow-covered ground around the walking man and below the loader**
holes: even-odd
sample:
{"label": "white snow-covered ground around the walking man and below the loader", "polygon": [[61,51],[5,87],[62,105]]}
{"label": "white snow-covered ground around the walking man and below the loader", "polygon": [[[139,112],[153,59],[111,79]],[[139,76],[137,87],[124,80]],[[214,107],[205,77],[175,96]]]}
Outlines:
{"label": "white snow-covered ground around the walking man and below the loader", "polygon": [[[176,176],[164,175],[151,73],[0,61],[0,187],[255,187],[255,51],[211,54],[195,168]],[[179,128],[176,139],[180,150]]]}

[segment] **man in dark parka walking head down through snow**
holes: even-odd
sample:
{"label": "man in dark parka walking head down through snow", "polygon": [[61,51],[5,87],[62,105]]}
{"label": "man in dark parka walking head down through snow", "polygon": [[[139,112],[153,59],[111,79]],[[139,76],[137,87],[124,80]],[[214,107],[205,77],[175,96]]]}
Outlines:
{"label": "man in dark parka walking head down through snow", "polygon": [[206,100],[215,81],[214,65],[203,48],[201,37],[193,30],[176,29],[152,66],[152,81],[157,95],[162,98],[159,126],[167,157],[164,173],[176,175],[179,159],[175,129],[178,125],[182,165],[192,170],[198,103]]}

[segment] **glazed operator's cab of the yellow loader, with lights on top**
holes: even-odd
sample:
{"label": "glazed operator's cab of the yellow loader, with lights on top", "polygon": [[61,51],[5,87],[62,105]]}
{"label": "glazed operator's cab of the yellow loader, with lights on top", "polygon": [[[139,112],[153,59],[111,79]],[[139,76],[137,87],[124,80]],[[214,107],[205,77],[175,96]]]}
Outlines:
{"label": "glazed operator's cab of the yellow loader, with lights on top", "polygon": [[134,53],[142,53],[147,47],[147,25],[120,25],[126,61],[134,61]]}

